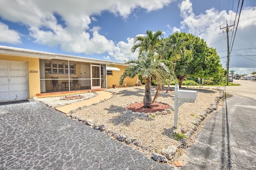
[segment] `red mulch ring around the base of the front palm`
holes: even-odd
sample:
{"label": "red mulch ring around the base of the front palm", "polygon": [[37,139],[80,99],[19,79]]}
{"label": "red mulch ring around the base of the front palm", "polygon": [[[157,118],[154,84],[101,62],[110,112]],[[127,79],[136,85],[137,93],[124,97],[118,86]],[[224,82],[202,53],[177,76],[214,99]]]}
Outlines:
{"label": "red mulch ring around the base of the front palm", "polygon": [[165,109],[169,109],[170,106],[167,104],[160,103],[152,103],[151,107],[144,107],[143,102],[134,103],[126,106],[127,110],[131,110],[133,112],[144,112],[144,113],[155,113],[156,111],[164,111]]}

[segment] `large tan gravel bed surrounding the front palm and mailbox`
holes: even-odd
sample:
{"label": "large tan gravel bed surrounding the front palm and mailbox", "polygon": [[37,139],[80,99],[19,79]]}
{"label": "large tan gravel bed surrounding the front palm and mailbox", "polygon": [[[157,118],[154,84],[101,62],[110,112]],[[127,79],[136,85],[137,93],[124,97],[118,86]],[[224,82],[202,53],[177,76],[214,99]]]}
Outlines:
{"label": "large tan gravel bed surrounding the front palm and mailbox", "polygon": [[[152,157],[152,153],[166,155],[164,150],[171,146],[174,148],[174,153],[169,156],[169,160],[166,162],[172,164],[180,154],[185,152],[182,148],[190,147],[192,141],[194,141],[193,136],[198,129],[198,124],[207,115],[206,111],[211,113],[216,109],[216,104],[221,98],[221,92],[218,90],[204,88],[186,89],[197,90],[198,99],[194,103],[184,103],[179,107],[177,129],[174,128],[174,111],[169,114],[147,117],[125,109],[125,106],[128,104],[143,101],[145,86],[109,88],[105,91],[114,94],[110,99],[91,106],[80,107],[71,111],[67,116],[83,121],[94,129],[101,130],[110,135],[113,139],[122,141],[130,147],[140,150],[149,157]],[[152,87],[152,99],[154,98],[155,90],[155,87]],[[168,93],[163,91],[157,98],[157,102],[173,106],[173,97],[174,90]],[[47,103],[48,101],[45,100],[44,102]],[[55,102],[58,103],[59,101]],[[53,103],[54,100],[51,103],[52,106],[54,106]],[[186,138],[176,140],[173,136],[175,133],[184,133]]]}

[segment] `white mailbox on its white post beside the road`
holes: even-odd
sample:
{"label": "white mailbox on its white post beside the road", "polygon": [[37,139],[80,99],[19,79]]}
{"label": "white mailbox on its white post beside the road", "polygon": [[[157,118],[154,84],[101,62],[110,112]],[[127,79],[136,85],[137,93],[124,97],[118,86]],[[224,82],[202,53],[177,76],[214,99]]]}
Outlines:
{"label": "white mailbox on its white post beside the road", "polygon": [[185,102],[194,103],[197,99],[197,91],[179,90],[179,85],[175,84],[174,89],[174,127],[178,127],[178,108]]}

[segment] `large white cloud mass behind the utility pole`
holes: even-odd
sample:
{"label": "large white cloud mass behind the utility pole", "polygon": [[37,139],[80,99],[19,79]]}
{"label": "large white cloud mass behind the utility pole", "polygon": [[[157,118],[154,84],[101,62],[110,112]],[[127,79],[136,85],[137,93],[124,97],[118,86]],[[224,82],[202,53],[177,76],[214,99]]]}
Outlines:
{"label": "large white cloud mass behind the utility pole", "polygon": [[[216,48],[218,54],[222,58],[222,65],[226,67],[226,63],[224,62],[226,61],[227,56],[227,35],[226,30],[220,29],[220,26],[226,27],[226,20],[228,20],[228,25],[233,25],[236,14],[233,11],[229,11],[229,13],[226,13],[226,11],[219,12],[212,8],[206,10],[204,14],[196,16],[193,13],[192,3],[189,0],[183,1],[179,7],[181,16],[183,17],[181,28],[188,29],[190,33],[204,39],[210,47]],[[231,28],[233,27],[230,27],[230,29]],[[224,33],[222,33],[222,30],[224,30]],[[240,15],[233,50],[256,47],[256,32],[252,30],[256,30],[256,7],[247,7],[242,10]],[[229,31],[229,37],[230,42],[232,37],[231,31]],[[248,54],[248,51],[242,50],[237,53],[246,55]],[[256,65],[256,62],[242,56],[234,55],[237,54],[232,52],[230,57],[230,69],[235,68],[237,70],[244,70],[244,68],[249,69],[252,64]],[[252,59],[252,57],[248,58]]]}

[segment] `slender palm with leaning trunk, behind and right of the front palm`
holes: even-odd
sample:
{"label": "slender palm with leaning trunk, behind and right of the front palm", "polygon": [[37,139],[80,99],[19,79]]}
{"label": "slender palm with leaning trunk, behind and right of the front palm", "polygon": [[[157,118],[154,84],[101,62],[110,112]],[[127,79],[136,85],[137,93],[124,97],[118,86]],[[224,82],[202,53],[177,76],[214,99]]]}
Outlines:
{"label": "slender palm with leaning trunk, behind and right of the front palm", "polygon": [[[169,47],[170,49],[168,55],[166,55],[166,59],[173,63],[170,66],[172,69],[172,73],[174,74],[176,63],[180,59],[187,59],[187,62],[190,62],[192,61],[194,54],[193,50],[187,49],[187,44],[184,37],[182,36],[182,33],[176,31],[175,33],[170,35],[168,39],[169,41],[167,42],[167,47]],[[170,78],[167,91],[170,88],[171,82],[172,78]]]}

